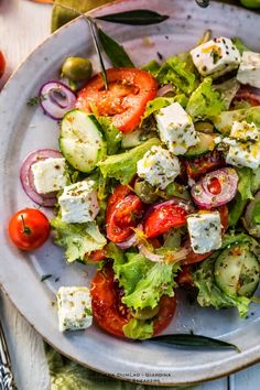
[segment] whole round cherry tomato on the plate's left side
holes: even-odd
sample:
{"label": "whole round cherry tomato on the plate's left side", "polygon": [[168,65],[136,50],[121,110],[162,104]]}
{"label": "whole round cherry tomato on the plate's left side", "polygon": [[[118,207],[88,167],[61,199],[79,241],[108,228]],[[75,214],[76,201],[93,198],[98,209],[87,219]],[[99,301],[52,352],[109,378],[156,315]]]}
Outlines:
{"label": "whole round cherry tomato on the plate's left side", "polygon": [[11,241],[18,248],[33,250],[46,241],[51,227],[42,212],[24,208],[12,216],[8,230]]}

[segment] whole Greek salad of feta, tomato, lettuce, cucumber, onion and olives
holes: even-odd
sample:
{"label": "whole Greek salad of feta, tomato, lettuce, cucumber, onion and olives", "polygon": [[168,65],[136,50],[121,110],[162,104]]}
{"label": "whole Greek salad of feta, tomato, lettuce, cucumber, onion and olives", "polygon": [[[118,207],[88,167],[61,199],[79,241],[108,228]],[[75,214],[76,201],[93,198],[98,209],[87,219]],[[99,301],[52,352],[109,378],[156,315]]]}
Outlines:
{"label": "whole Greek salad of feta, tomato, lettuce, cucumber, onion and olives", "polygon": [[[173,319],[177,289],[246,317],[260,278],[260,54],[220,36],[109,68],[108,88],[91,72],[69,57],[63,79],[42,86],[59,150],[32,151],[21,166],[29,197],[54,209],[66,261],[97,264],[90,286],[58,290],[59,329],[94,318],[111,335],[151,338]],[[23,250],[50,234],[31,212],[9,226]]]}

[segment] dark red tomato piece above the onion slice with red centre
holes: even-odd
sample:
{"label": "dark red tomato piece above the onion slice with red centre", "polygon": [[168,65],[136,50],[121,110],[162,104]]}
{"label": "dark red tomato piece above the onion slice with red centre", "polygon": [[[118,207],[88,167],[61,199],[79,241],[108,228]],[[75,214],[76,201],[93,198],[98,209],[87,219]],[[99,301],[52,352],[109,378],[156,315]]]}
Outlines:
{"label": "dark red tomato piece above the onion slice with red centre", "polygon": [[192,178],[198,178],[207,172],[226,165],[223,154],[214,150],[193,160],[186,160],[186,172]]}

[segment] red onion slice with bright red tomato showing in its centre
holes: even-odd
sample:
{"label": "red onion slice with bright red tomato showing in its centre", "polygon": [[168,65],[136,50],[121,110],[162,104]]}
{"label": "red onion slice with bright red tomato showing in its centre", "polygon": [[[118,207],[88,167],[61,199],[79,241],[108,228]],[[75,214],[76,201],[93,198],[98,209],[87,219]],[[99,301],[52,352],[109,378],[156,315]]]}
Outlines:
{"label": "red onion slice with bright red tomato showing in its centre", "polygon": [[[208,184],[213,178],[217,178],[220,183],[219,194],[213,194],[208,189]],[[207,173],[192,187],[191,194],[197,205],[209,209],[230,202],[237,193],[237,172],[232,167],[224,167]]]}

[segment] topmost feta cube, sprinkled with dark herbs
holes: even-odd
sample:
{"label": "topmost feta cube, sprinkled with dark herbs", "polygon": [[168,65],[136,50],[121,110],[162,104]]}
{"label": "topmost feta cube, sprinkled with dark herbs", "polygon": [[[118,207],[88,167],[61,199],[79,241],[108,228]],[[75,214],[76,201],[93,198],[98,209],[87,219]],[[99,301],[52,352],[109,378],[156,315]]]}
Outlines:
{"label": "topmost feta cube, sprinkled with dark herbs", "polygon": [[216,78],[236,69],[240,53],[228,37],[215,37],[191,51],[194,65],[203,76]]}

